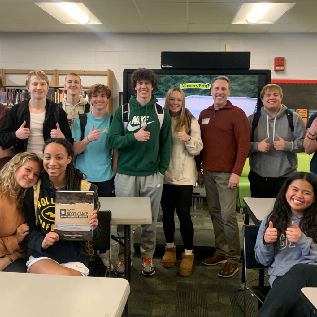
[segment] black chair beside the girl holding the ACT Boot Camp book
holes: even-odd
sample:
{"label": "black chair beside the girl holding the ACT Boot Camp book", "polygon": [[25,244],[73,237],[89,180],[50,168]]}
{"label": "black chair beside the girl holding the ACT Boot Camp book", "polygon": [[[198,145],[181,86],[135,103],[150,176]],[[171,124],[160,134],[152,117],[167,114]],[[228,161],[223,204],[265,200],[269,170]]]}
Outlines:
{"label": "black chair beside the girl holding the ACT Boot Camp book", "polygon": [[[94,263],[90,263],[89,276],[106,277],[107,267],[104,265],[97,251],[104,253],[109,250],[109,263],[111,261],[111,211],[98,211],[99,223],[101,224],[101,231],[96,240],[93,241],[93,248],[95,250]],[[109,277],[111,275],[111,268],[109,268]]]}

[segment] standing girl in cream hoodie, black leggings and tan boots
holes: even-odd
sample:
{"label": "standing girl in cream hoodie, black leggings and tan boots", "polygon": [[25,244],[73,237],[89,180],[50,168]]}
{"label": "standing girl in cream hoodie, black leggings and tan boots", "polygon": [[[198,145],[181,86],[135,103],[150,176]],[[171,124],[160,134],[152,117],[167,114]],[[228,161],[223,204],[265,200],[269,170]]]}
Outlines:
{"label": "standing girl in cream hoodie, black leggings and tan boots", "polygon": [[166,239],[163,266],[172,267],[176,261],[176,246],[174,245],[174,212],[176,209],[185,248],[179,275],[190,276],[194,261],[192,253],[194,228],[190,216],[191,195],[198,176],[194,155],[200,153],[203,143],[199,124],[185,107],[185,94],[182,89],[172,87],[167,92],[165,108],[171,115],[173,150],[170,165],[164,175],[161,198]]}

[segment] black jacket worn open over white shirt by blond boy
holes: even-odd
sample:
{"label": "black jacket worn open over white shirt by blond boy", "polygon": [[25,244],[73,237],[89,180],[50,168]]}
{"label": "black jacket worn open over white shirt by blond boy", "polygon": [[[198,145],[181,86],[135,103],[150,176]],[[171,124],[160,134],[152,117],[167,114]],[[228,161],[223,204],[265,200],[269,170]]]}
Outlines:
{"label": "black jacket worn open over white shirt by blond boy", "polygon": [[[18,139],[16,137],[16,131],[24,121],[26,121],[25,128],[30,128],[29,101],[29,99],[24,100],[23,102],[14,105],[8,112],[0,129],[0,146],[14,146],[16,148],[16,152],[25,152],[28,148],[29,139]],[[18,118],[19,107],[23,107],[20,118]],[[58,123],[61,132],[64,134],[65,139],[68,139],[68,141],[73,144],[72,133],[69,128],[66,112],[49,99],[46,99],[45,111],[45,119],[43,123],[44,141],[51,137],[51,130],[56,129],[54,111],[57,111],[59,117]]]}

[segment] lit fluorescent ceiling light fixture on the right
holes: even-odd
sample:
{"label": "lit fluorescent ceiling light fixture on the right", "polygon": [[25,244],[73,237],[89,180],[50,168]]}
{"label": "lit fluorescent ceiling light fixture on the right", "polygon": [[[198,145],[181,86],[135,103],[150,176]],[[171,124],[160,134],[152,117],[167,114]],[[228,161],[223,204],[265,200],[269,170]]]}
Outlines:
{"label": "lit fluorescent ceiling light fixture on the right", "polygon": [[[265,0],[264,0],[265,1]],[[275,23],[295,3],[242,3],[232,24]]]}

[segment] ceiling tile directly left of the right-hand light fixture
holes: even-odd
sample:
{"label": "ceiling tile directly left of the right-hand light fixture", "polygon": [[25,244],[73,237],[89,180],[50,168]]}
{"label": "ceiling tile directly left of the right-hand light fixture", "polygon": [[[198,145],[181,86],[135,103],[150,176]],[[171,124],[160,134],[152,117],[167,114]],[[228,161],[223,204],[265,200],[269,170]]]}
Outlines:
{"label": "ceiling tile directly left of the right-hand light fixture", "polygon": [[231,23],[239,3],[190,3],[189,23]]}

